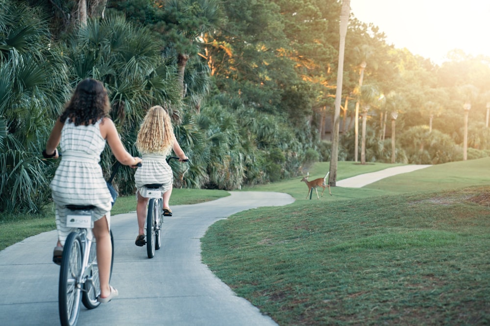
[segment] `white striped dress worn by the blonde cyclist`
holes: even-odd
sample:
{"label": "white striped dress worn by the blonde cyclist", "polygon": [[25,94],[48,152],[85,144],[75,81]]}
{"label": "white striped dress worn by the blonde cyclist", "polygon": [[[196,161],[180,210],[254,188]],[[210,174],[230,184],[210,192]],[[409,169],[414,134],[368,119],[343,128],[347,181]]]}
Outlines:
{"label": "white striped dress worn by the blonde cyclist", "polygon": [[172,188],[173,172],[172,168],[166,161],[166,156],[161,154],[143,154],[142,166],[136,169],[134,174],[134,183],[136,192],[140,192],[141,188],[146,184],[161,183],[163,184],[163,192]]}

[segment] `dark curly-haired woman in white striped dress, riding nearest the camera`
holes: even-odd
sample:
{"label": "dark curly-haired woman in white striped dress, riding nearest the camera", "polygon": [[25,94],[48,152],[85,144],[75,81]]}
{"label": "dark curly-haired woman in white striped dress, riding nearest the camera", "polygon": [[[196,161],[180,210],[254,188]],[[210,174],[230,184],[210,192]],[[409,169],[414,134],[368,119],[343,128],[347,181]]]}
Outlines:
{"label": "dark curly-haired woman in white striped dress, riding nearest the camera", "polygon": [[112,196],[99,165],[100,154],[109,144],[116,159],[135,167],[141,158],[128,153],[118,131],[109,118],[109,98],[105,87],[95,79],[81,81],[56,121],[49,135],[45,157],[58,157],[60,145],[63,153],[50,187],[55,203],[58,243],[53,261],[61,263],[63,245],[73,231],[66,227],[66,205],[94,205],[94,228],[97,241],[97,264],[100,279],[99,302],[109,302],[118,291],[109,285],[112,245],[110,239],[110,211]]}

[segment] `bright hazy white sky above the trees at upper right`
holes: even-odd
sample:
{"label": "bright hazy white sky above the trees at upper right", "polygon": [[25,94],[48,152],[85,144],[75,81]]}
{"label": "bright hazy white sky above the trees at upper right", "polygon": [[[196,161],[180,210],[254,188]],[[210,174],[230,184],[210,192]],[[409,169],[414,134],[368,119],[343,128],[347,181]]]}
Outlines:
{"label": "bright hazy white sky above the trees at upper right", "polygon": [[377,25],[387,43],[435,64],[453,49],[490,57],[489,0],[350,0],[350,12]]}

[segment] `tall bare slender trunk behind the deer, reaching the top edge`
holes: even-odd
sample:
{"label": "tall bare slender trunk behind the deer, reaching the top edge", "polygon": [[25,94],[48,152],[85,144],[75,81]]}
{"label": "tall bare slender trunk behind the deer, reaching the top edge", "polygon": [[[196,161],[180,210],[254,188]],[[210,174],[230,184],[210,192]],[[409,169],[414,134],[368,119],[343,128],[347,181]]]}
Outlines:
{"label": "tall bare slender trunk behind the deer, reaching the top edge", "polygon": [[347,35],[347,24],[349,22],[350,0],[342,1],[340,12],[340,43],[339,43],[339,67],[337,69],[337,90],[335,92],[335,114],[334,130],[332,141],[332,152],[330,156],[330,174],[328,184],[335,186],[337,182],[337,163],[339,160],[339,126],[340,126],[340,105],[342,101],[342,83],[343,83],[343,57],[345,50],[345,36]]}

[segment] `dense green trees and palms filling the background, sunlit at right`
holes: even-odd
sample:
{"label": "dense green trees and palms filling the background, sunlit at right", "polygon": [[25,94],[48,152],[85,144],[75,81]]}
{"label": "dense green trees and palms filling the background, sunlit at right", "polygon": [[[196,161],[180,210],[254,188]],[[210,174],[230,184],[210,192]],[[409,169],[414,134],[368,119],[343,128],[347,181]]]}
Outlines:
{"label": "dense green trees and palms filling the background, sunlit at right", "polygon": [[[191,157],[172,165],[176,187],[237,189],[330,159],[340,1],[80,3],[0,0],[3,210],[35,212],[49,201],[56,162],[39,153],[72,88],[87,77],[107,87],[111,116],[134,154],[146,109],[171,103]],[[357,108],[367,162],[461,160],[464,103],[471,104],[468,158],[487,156],[489,61],[455,50],[435,65],[394,48],[351,13],[339,159],[358,159]],[[109,151],[101,162],[110,174]],[[122,194],[133,192],[132,174],[119,170]]]}

